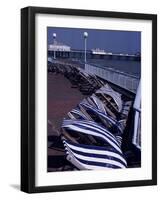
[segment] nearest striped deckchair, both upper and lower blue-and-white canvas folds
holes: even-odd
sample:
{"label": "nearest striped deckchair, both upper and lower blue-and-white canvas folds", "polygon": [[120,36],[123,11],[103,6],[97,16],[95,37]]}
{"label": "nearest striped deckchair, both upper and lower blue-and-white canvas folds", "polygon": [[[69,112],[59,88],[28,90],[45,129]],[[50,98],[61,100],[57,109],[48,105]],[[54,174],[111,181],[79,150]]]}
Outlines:
{"label": "nearest striped deckchair, both upper and lower blue-and-white canvas folds", "polygon": [[69,141],[62,137],[67,160],[78,169],[99,170],[126,168],[127,163],[122,154],[117,138],[95,122],[81,120],[64,120],[63,128],[73,130],[75,133],[92,135],[102,139],[105,145],[86,145]]}

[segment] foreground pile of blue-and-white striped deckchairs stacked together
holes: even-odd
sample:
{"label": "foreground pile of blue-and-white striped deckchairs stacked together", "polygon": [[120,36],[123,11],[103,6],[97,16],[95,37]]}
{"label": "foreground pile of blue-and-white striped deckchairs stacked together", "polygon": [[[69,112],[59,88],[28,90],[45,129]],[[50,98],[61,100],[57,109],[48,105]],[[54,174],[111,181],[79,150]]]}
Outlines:
{"label": "foreground pile of blue-and-white striped deckchairs stacked together", "polygon": [[62,124],[67,160],[80,170],[126,168],[121,145],[130,107],[108,84],[81,101]]}

